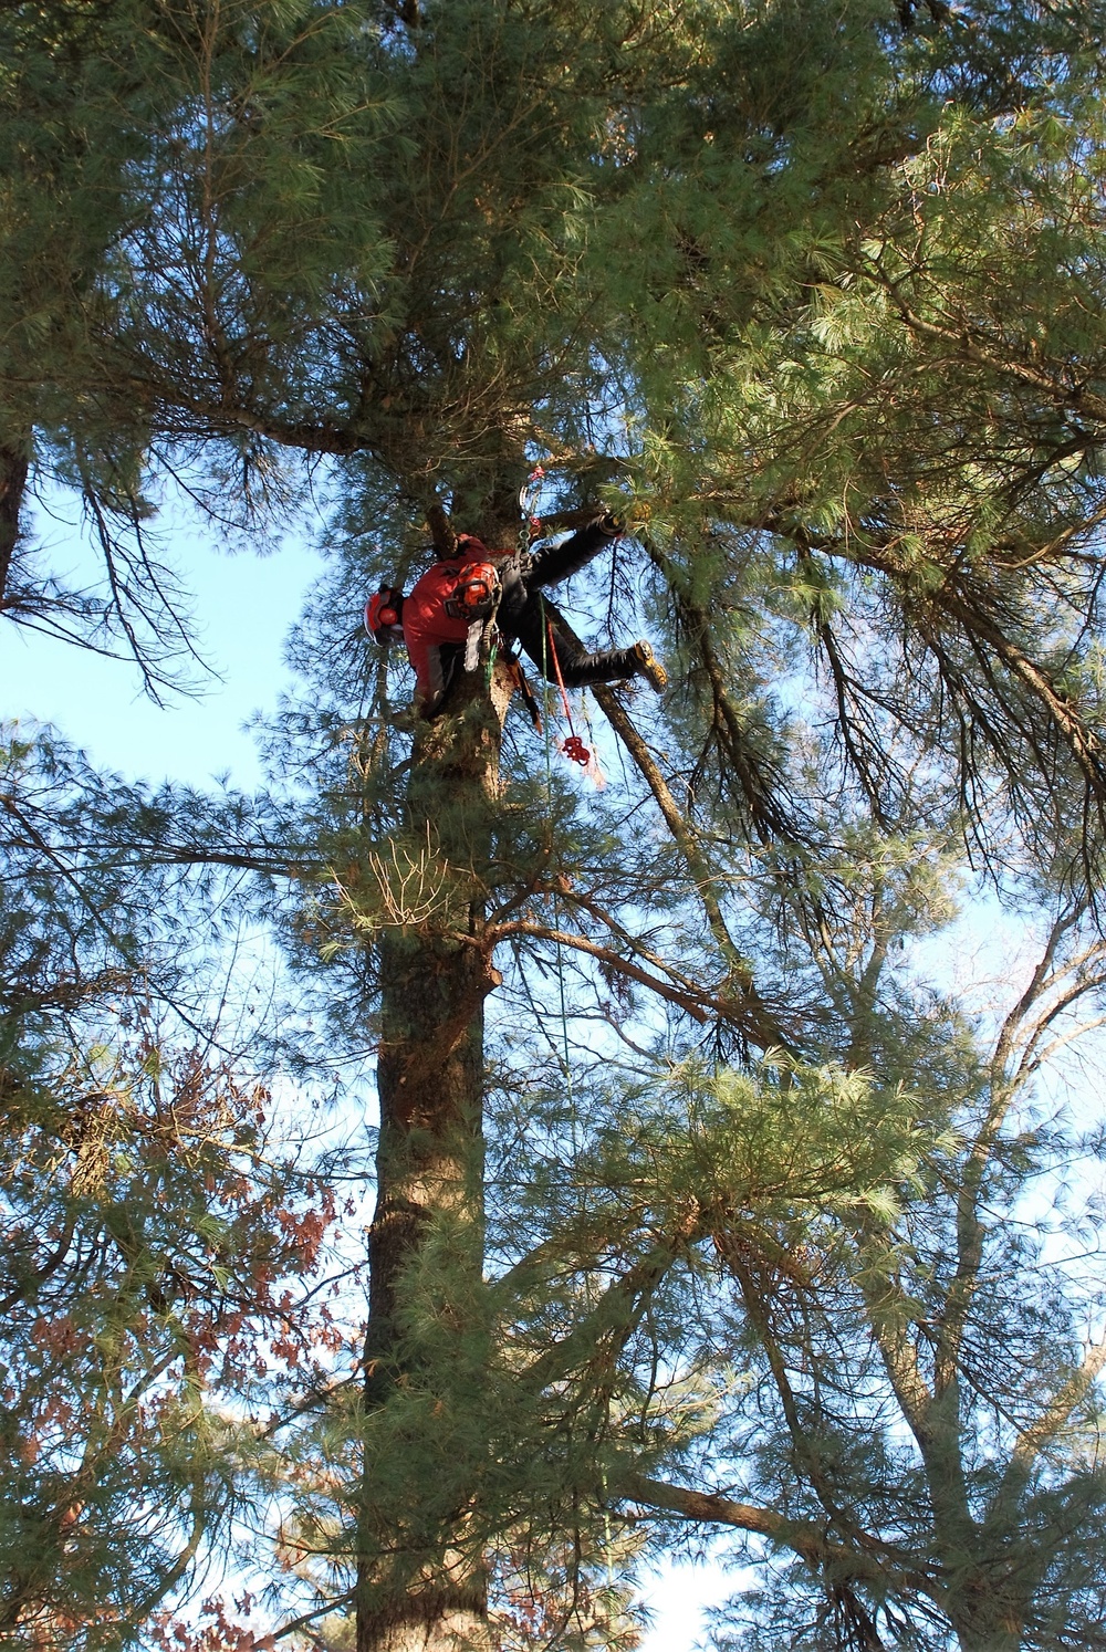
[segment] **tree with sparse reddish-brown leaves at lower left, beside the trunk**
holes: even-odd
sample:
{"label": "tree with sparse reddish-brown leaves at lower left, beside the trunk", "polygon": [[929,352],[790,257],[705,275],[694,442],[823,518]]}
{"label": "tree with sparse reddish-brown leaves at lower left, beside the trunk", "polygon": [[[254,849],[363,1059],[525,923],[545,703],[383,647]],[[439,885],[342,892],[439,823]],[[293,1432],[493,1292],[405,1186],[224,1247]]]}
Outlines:
{"label": "tree with sparse reddish-brown leaves at lower left, beside the trunk", "polygon": [[0,1622],[13,1647],[119,1645],[202,1576],[246,1518],[260,1431],[326,1386],[346,1346],[324,1297],[342,1272],[334,1184],[286,1122],[278,1140],[258,993],[226,990],[218,928],[243,914],[212,874],[136,859],[159,814],[46,735],[8,735]]}

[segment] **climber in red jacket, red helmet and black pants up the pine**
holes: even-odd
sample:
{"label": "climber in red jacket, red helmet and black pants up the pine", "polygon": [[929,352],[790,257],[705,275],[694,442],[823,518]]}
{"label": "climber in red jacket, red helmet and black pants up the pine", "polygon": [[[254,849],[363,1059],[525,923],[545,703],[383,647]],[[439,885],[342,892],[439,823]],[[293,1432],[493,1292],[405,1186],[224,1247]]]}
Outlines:
{"label": "climber in red jacket, red helmet and black pants up the pine", "polygon": [[473,534],[460,534],[456,553],[427,568],[408,596],[380,586],[365,603],[365,629],[377,643],[402,638],[407,644],[420,717],[435,717],[460,671],[476,669],[489,628],[508,648],[521,643],[551,682],[582,687],[640,676],[660,694],[668,672],[648,643],[589,654],[542,596],[544,586],[579,573],[620,534],[622,524],[603,515],[532,557],[488,550]]}

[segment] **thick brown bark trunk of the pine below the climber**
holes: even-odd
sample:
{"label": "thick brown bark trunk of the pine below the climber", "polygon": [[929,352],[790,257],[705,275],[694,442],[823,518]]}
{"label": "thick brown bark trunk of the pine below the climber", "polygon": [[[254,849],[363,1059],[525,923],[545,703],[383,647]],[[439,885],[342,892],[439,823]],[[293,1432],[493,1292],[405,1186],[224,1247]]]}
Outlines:
{"label": "thick brown bark trunk of the pine below the climber", "polygon": [[[446,1389],[468,1373],[468,1393],[479,1386],[483,1011],[499,980],[479,942],[508,699],[504,672],[496,672],[491,694],[479,672],[461,686],[448,715],[420,729],[408,841],[428,844],[427,885],[445,882],[431,919],[390,928],[382,942],[357,1652],[489,1645],[474,1505],[476,1408],[458,1417],[466,1408],[451,1404],[450,1393],[435,1398],[435,1384]],[[418,1313],[433,1320],[433,1358],[420,1351],[412,1323]],[[423,1409],[402,1412],[418,1393]],[[407,1417],[398,1434],[389,1429],[389,1408]],[[379,1426],[382,1434],[374,1432]],[[403,1427],[418,1434],[407,1479]]]}

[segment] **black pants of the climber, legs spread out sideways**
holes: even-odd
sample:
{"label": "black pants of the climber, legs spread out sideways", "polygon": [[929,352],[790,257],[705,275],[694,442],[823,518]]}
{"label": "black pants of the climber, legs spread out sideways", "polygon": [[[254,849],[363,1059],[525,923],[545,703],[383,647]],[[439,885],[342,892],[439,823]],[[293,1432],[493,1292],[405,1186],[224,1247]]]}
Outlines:
{"label": "black pants of the climber, legs spread out sideways", "polygon": [[640,669],[640,661],[632,648],[587,653],[569,631],[555,603],[542,595],[547,585],[559,585],[560,580],[579,573],[610,542],[612,535],[605,534],[597,522],[590,522],[564,545],[551,545],[549,550],[539,552],[526,575],[514,570],[504,575],[498,615],[499,629],[504,638],[519,641],[551,682],[557,681],[559,666],[560,679],[569,689],[579,689],[589,682],[617,682],[622,677],[632,677]]}

